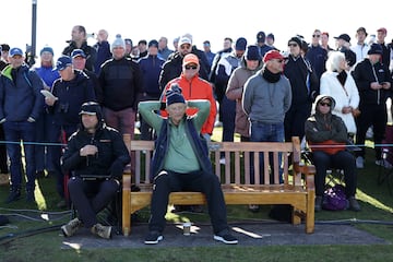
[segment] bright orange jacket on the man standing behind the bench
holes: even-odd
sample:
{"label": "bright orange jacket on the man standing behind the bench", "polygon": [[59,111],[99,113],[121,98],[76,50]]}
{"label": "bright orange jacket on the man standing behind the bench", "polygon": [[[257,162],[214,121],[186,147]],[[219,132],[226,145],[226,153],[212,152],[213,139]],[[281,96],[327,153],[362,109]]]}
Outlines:
{"label": "bright orange jacket on the man standing behind the bench", "polygon": [[[165,91],[168,90],[172,83],[177,83],[180,86],[186,100],[206,99],[211,102],[211,112],[209,115],[209,118],[206,119],[206,122],[202,127],[201,133],[212,134],[215,117],[217,114],[217,105],[213,96],[212,85],[207,81],[199,78],[198,75],[193,76],[191,80],[187,80],[184,75],[181,74],[179,78],[169,81],[168,84],[165,86]],[[166,102],[165,91],[163,92],[162,97],[162,102],[164,103]],[[192,116],[195,112],[196,109],[194,108],[187,109],[188,116]],[[167,117],[168,112],[166,110],[163,110],[162,116]]]}

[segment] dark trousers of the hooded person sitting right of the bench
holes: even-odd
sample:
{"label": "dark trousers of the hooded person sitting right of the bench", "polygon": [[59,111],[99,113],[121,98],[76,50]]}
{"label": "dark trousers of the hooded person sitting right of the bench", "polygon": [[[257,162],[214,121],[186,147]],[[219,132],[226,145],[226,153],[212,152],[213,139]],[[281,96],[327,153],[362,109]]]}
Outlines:
{"label": "dark trousers of the hooded person sitting right of the bench", "polygon": [[356,193],[356,159],[347,151],[341,151],[334,155],[318,151],[312,153],[315,166],[315,194],[323,195],[325,190],[326,170],[337,168],[344,170],[345,194],[347,198]]}

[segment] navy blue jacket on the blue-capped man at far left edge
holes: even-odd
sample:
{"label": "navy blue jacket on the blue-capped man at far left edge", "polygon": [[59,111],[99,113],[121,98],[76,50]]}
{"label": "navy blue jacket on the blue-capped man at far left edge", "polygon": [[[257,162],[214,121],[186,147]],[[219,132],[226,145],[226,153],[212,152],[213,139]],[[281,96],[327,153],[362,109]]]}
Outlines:
{"label": "navy blue jacket on the blue-capped man at far left edge", "polygon": [[[12,73],[14,70],[16,74]],[[27,66],[19,69],[7,66],[0,81],[0,119],[27,121],[32,117],[37,120],[44,110],[43,88],[41,79]]]}

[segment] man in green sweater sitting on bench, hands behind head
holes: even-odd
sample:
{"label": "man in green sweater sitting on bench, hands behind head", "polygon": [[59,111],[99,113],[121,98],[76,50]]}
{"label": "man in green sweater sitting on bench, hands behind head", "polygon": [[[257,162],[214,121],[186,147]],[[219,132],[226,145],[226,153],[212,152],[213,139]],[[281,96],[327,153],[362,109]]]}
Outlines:
{"label": "man in green sweater sitting on bench, hands behind head", "polygon": [[[154,245],[163,240],[162,233],[170,192],[196,191],[206,195],[214,239],[224,243],[237,243],[238,240],[230,234],[227,224],[223,191],[217,176],[213,174],[206,142],[200,135],[210,112],[210,102],[186,103],[177,84],[166,92],[166,97],[168,119],[155,112],[159,110],[160,102],[139,104],[143,119],[158,134],[151,169],[154,186],[150,233],[144,242]],[[187,117],[187,107],[198,108],[198,114]]]}

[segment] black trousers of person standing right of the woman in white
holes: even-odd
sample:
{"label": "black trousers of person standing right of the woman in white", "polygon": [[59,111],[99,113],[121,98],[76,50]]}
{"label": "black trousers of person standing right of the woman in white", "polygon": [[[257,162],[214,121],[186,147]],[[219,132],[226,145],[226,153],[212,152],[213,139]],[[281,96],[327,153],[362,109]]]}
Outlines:
{"label": "black trousers of person standing right of the woman in white", "polygon": [[[385,103],[382,105],[360,105],[360,116],[356,120],[356,144],[364,145],[366,141],[366,133],[370,126],[373,127],[373,141],[377,146],[376,158],[381,159],[381,144],[385,135],[388,111]],[[365,157],[365,146],[360,146],[361,151],[356,152],[356,156]]]}

